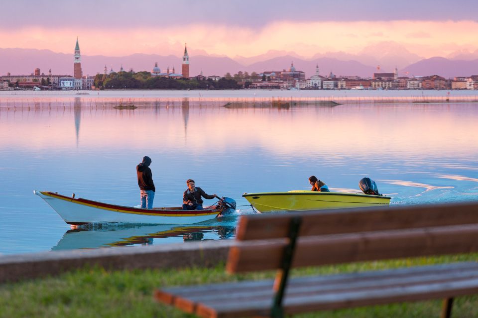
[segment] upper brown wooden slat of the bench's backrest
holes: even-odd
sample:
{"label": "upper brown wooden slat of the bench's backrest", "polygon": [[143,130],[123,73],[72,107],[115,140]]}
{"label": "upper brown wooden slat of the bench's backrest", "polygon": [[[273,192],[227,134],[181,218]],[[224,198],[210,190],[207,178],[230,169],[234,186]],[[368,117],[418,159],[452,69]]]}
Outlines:
{"label": "upper brown wooden slat of the bench's backrest", "polygon": [[293,212],[269,215],[243,215],[238,240],[287,237],[290,220],[302,218],[299,236],[383,231],[478,223],[477,203],[424,206],[376,207]]}

